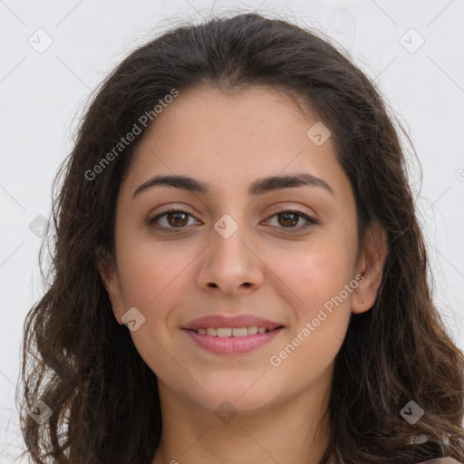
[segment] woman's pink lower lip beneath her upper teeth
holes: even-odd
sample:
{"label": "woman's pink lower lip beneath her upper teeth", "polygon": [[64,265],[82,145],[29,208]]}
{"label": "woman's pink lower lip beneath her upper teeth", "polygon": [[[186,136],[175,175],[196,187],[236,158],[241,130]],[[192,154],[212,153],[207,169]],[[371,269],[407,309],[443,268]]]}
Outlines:
{"label": "woman's pink lower lip beneath her upper teeth", "polygon": [[216,354],[248,353],[259,346],[269,343],[275,335],[284,330],[283,327],[271,332],[256,333],[244,337],[213,337],[208,333],[196,333],[193,330],[183,329],[195,343],[208,352]]}

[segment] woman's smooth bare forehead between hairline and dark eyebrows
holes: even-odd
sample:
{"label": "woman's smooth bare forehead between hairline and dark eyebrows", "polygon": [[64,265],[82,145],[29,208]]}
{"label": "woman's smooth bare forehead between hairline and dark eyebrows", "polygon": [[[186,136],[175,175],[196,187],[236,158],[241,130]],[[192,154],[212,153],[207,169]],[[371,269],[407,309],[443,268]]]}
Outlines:
{"label": "woman's smooth bare forehead between hairline and dark eyebrows", "polygon": [[144,134],[129,182],[137,188],[159,172],[188,174],[208,179],[218,193],[237,189],[242,181],[248,187],[257,178],[304,170],[326,179],[336,194],[349,188],[348,179],[332,140],[318,146],[308,138],[316,122],[309,111],[298,111],[288,95],[273,89],[179,92]]}

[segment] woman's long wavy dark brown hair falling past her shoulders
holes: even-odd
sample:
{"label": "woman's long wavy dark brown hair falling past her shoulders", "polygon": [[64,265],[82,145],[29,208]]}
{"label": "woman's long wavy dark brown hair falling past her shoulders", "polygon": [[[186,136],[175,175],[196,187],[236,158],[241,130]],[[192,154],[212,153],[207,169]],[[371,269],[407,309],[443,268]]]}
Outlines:
{"label": "woman's long wavy dark brown hair falling past her shoulders", "polygon": [[[117,324],[97,263],[114,253],[116,198],[146,131],[140,117],[151,114],[156,124],[160,100],[198,85],[271,86],[295,96],[332,131],[359,238],[373,220],[388,234],[377,299],[352,314],[335,359],[321,464],[464,461],[464,357],[432,303],[400,132],[370,79],[333,45],[260,14],[178,26],[132,52],[92,97],[53,183],[49,282],[24,323],[27,452],[39,463],[154,458],[162,426],[156,375]],[[137,140],[115,152],[138,122]],[[43,423],[27,413],[39,400],[52,410]],[[401,416],[410,401],[424,411],[413,424]]]}

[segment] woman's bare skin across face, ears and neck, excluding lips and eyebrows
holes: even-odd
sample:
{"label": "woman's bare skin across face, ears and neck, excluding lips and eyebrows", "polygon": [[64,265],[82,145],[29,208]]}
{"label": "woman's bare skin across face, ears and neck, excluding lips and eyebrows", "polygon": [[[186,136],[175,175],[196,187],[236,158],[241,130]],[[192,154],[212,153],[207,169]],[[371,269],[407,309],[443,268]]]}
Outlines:
{"label": "woman's bare skin across face, ears and neck, excluding lips and eyebrows", "polygon": [[[131,337],[158,377],[163,431],[153,464],[301,464],[324,454],[327,418],[316,432],[334,358],[351,314],[374,303],[387,241],[372,224],[356,261],[353,190],[331,139],[316,146],[306,136],[315,121],[274,90],[201,87],[180,92],[141,142],[117,201],[115,262],[100,269],[118,322],[131,307],[145,317]],[[314,186],[247,193],[256,179],[296,171],[324,179],[333,195]],[[132,197],[159,174],[200,179],[211,191],[157,186]],[[147,224],[169,206],[190,215],[158,219],[173,233]],[[320,223],[304,230],[297,216],[289,226],[276,215],[282,210]],[[238,226],[228,238],[214,228],[225,214]],[[358,274],[362,282],[343,303],[272,365],[270,357]],[[214,354],[181,330],[207,314],[255,314],[285,329],[251,353]],[[227,423],[215,414],[223,401],[237,411]]]}

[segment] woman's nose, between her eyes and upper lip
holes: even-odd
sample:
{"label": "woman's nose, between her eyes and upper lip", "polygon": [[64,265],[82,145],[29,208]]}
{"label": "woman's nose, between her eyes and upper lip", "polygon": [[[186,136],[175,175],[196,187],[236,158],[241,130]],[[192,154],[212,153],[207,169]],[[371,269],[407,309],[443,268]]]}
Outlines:
{"label": "woman's nose, between her eyes and upper lip", "polygon": [[245,227],[238,227],[228,237],[216,229],[211,230],[211,241],[198,274],[201,288],[214,288],[224,295],[242,295],[262,285],[264,264],[244,231]]}

